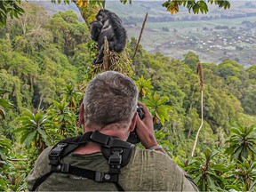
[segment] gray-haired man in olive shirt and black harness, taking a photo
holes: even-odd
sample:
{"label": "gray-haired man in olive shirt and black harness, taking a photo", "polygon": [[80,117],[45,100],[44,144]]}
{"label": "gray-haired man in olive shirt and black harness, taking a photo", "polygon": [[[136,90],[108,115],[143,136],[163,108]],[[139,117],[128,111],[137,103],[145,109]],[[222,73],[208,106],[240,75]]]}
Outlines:
{"label": "gray-haired man in olive shirt and black harness, taking a photo", "polygon": [[[114,71],[95,76],[79,113],[84,135],[46,148],[28,175],[28,189],[196,191],[157,144],[152,116],[137,98],[138,89],[128,76]],[[125,142],[135,126],[145,149]]]}

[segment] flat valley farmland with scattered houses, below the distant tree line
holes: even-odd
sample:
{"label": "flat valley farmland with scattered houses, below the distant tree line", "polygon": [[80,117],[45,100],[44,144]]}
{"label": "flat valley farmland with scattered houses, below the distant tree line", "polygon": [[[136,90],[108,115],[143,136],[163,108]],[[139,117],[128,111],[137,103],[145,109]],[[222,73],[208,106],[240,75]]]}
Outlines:
{"label": "flat valley farmland with scattered houses, below the distant tree line", "polygon": [[[202,61],[219,63],[232,59],[247,67],[256,64],[253,54],[256,28],[255,21],[251,20],[256,20],[256,17],[246,20],[148,22],[141,44],[148,52],[162,52],[175,59],[193,51]],[[139,36],[140,27],[126,28],[129,36]]]}

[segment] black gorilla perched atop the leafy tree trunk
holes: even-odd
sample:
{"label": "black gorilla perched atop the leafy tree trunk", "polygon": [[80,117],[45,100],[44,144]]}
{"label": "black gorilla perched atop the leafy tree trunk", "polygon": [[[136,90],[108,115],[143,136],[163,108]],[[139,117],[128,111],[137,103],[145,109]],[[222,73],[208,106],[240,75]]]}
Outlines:
{"label": "black gorilla perched atop the leafy tree trunk", "polygon": [[91,38],[98,42],[99,53],[92,64],[100,64],[104,56],[104,36],[108,39],[109,51],[123,52],[126,44],[126,30],[122,20],[114,12],[100,10],[96,21],[91,23]]}

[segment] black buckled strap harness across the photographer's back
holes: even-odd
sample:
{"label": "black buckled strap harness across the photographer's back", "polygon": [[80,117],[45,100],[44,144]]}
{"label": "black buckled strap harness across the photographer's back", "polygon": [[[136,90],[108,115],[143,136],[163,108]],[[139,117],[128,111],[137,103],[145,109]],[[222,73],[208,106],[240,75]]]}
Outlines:
{"label": "black buckled strap harness across the photographer's back", "polygon": [[[60,163],[61,158],[68,156],[68,154],[76,148],[89,141],[96,142],[101,145],[101,152],[108,160],[109,172],[95,172],[75,167],[70,164]],[[121,167],[124,167],[129,163],[133,148],[135,148],[135,146],[131,143],[112,138],[98,131],[86,132],[82,136],[61,140],[49,153],[49,164],[52,165],[51,171],[45,173],[36,180],[32,191],[36,190],[36,188],[38,188],[38,186],[42,184],[44,180],[52,174],[52,172],[73,174],[79,177],[95,180],[96,182],[112,182],[116,185],[118,191],[124,191],[124,188],[122,188],[118,183],[119,173]]]}

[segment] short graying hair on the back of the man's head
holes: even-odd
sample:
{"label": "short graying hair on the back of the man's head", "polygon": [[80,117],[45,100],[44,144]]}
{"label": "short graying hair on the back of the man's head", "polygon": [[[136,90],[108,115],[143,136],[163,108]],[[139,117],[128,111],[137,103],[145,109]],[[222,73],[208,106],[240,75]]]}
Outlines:
{"label": "short graying hair on the back of the man's head", "polygon": [[84,94],[85,125],[129,124],[138,102],[132,79],[115,71],[95,76]]}

